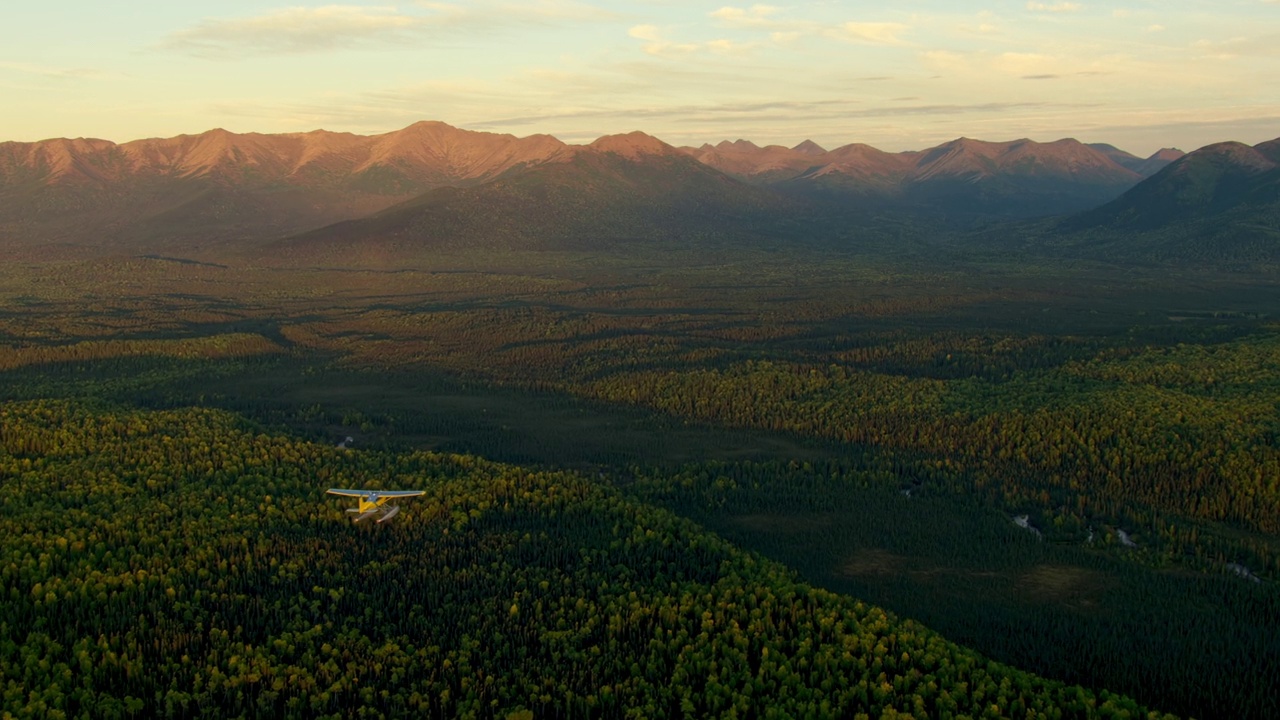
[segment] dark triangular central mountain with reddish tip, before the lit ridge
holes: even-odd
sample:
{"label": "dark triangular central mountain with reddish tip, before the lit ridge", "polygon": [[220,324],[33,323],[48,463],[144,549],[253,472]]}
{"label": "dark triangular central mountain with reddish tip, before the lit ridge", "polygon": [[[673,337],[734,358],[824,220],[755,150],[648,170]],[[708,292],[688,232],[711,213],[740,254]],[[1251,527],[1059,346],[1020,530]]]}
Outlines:
{"label": "dark triangular central mountain with reddish tip, before the lit ridge", "polygon": [[475,187],[448,187],[374,217],[265,249],[337,256],[449,250],[589,250],[776,237],[805,206],[736,181],[644,133],[605,136]]}

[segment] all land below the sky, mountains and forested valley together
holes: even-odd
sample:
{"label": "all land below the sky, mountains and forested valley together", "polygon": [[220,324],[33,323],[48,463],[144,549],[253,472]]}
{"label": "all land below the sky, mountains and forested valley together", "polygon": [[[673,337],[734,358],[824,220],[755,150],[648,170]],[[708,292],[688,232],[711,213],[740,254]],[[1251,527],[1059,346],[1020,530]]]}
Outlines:
{"label": "all land below the sky, mountains and forested valley together", "polygon": [[1275,717],[1276,147],[3,143],[0,714]]}

